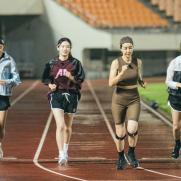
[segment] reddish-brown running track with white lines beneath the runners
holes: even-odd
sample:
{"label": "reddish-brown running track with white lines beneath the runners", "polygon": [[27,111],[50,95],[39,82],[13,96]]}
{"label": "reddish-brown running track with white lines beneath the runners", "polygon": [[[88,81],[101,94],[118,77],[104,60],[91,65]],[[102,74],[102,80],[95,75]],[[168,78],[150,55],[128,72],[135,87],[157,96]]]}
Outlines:
{"label": "reddish-brown running track with white lines beneath the runners", "polygon": [[14,90],[0,181],[181,180],[181,160],[169,158],[173,146],[171,127],[144,107],[137,146],[141,168],[115,169],[112,89],[103,80],[84,84],[73,124],[70,163],[67,167],[58,166],[55,122],[46,92],[47,87],[37,81],[24,81]]}

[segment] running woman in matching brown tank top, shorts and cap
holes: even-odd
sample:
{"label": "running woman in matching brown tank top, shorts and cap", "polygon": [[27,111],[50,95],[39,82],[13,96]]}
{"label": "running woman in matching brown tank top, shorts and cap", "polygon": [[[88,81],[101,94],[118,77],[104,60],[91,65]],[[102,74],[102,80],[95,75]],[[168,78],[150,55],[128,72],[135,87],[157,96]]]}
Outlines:
{"label": "running woman in matching brown tank top, shorts and cap", "polygon": [[[109,86],[115,87],[112,97],[112,115],[116,128],[118,170],[124,169],[127,161],[134,168],[139,166],[134,152],[138,139],[138,119],[140,114],[140,96],[137,87],[138,83],[142,87],[145,86],[141,76],[141,60],[132,56],[132,38],[123,37],[120,40],[120,49],[122,55],[113,60],[109,76]],[[127,156],[124,154],[126,132],[128,133],[129,143]]]}

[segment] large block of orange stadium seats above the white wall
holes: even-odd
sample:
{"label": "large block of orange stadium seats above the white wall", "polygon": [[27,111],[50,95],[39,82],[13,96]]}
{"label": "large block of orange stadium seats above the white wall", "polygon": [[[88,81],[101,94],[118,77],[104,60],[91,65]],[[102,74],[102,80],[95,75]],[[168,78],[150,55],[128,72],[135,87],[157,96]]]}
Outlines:
{"label": "large block of orange stadium seats above the white wall", "polygon": [[87,23],[99,28],[164,28],[168,22],[138,0],[57,0]]}

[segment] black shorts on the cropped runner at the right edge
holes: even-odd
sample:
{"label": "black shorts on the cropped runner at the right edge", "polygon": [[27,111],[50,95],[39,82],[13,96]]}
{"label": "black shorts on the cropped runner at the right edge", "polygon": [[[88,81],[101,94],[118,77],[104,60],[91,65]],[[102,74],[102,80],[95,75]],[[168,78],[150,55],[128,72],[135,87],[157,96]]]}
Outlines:
{"label": "black shorts on the cropped runner at the right edge", "polygon": [[181,96],[169,95],[168,97],[170,106],[176,110],[181,111]]}

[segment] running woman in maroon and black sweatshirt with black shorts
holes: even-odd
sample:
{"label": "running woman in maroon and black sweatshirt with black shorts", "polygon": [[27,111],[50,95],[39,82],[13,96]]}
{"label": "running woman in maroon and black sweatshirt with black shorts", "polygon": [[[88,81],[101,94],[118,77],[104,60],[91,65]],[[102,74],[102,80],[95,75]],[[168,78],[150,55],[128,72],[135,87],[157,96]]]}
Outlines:
{"label": "running woman in maroon and black sweatshirt with black shorts", "polygon": [[72,121],[80,100],[81,84],[85,79],[81,62],[72,57],[71,48],[70,39],[61,38],[57,43],[59,55],[45,65],[42,77],[42,82],[50,89],[48,99],[56,121],[60,165],[68,161]]}

